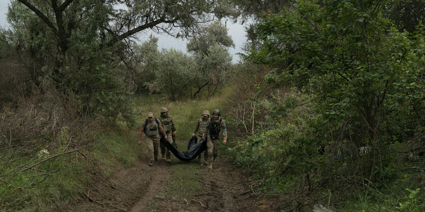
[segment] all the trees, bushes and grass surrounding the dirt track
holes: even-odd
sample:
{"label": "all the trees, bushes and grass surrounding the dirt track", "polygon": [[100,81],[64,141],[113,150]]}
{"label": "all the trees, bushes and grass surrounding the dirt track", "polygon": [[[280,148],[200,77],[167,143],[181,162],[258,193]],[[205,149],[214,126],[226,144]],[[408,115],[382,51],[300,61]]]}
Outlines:
{"label": "all the trees, bushes and grass surrounding the dirt track", "polygon": [[[425,210],[423,5],[11,1],[0,30],[1,209],[57,210],[131,166],[128,130],[148,110],[167,106],[189,135],[183,123],[225,100],[226,153],[277,208]],[[222,17],[250,22],[236,65],[213,21]],[[188,52],[159,50],[152,35],[138,42],[147,29],[188,38]]]}

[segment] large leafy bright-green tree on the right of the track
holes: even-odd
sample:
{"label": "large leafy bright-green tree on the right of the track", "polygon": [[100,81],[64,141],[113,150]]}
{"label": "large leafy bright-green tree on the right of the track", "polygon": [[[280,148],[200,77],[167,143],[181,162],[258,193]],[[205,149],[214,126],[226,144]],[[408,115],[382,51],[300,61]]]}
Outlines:
{"label": "large leafy bright-green tree on the right of the track", "polygon": [[393,142],[383,139],[388,131],[381,125],[399,105],[414,108],[424,97],[423,32],[400,33],[382,16],[384,4],[306,1],[294,13],[268,14],[259,26],[264,47],[248,56],[271,68],[269,84],[292,83],[315,94],[324,117],[318,132],[328,123],[338,129],[332,140],[340,145],[372,146],[361,170],[368,184],[383,176],[375,166],[385,166]]}

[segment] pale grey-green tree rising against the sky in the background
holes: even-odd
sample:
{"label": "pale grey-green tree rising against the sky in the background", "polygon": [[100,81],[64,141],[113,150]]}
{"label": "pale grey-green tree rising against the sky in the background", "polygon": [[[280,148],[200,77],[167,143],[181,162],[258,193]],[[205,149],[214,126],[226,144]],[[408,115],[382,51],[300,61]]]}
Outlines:
{"label": "pale grey-green tree rising against the sky in the background", "polygon": [[229,69],[232,57],[229,47],[234,47],[232,38],[227,34],[227,29],[219,21],[205,27],[199,34],[190,38],[187,50],[194,54],[196,60],[196,73],[193,80],[197,94],[209,92],[213,95],[224,81],[225,72]]}

